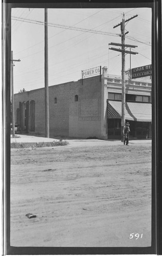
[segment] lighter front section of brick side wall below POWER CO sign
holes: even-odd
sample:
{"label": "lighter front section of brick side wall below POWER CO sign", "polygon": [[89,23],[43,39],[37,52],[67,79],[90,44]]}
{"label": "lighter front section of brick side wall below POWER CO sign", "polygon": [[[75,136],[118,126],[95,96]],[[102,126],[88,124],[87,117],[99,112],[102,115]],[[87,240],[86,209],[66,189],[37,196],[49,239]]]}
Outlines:
{"label": "lighter front section of brick side wall below POWER CO sign", "polygon": [[[78,101],[74,101],[75,95]],[[88,138],[101,135],[101,82],[100,77],[79,80],[71,87],[70,137]]]}

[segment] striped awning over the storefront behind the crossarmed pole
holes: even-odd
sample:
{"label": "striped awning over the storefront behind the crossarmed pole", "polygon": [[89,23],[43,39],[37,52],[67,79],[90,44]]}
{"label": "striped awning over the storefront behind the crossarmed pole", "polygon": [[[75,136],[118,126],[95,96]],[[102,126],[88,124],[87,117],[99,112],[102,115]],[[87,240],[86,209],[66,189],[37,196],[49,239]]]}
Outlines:
{"label": "striped awning over the storefront behind the crossarmed pole", "polygon": [[[126,102],[125,119],[137,122],[151,122],[152,104]],[[122,101],[107,100],[107,118],[122,118]]]}

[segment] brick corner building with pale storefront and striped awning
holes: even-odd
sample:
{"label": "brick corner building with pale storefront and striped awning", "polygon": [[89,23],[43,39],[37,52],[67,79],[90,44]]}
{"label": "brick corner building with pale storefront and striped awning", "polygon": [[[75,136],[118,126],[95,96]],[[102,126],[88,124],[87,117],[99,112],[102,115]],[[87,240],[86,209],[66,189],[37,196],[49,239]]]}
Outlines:
{"label": "brick corner building with pale storefront and striped awning", "polygon": [[[49,87],[50,137],[115,139],[121,137],[121,76],[92,76]],[[15,123],[44,136],[44,88],[14,95]],[[126,121],[130,136],[151,138],[151,82],[126,80]]]}

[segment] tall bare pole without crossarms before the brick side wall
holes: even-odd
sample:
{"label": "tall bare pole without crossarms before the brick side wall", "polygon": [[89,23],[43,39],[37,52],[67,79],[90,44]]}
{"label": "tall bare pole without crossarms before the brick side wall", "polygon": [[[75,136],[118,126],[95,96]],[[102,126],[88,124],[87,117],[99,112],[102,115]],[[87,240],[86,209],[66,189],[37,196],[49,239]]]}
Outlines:
{"label": "tall bare pole without crossarms before the brick side wall", "polygon": [[45,137],[49,138],[48,9],[44,9]]}

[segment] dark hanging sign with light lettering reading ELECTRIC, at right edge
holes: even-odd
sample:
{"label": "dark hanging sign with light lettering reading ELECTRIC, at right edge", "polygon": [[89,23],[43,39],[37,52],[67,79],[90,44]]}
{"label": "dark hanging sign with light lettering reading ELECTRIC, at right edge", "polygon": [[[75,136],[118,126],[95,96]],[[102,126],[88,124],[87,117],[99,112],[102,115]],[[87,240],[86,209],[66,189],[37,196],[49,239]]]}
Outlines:
{"label": "dark hanging sign with light lettering reading ELECTRIC, at right edge", "polygon": [[133,78],[138,78],[138,77],[144,77],[144,76],[151,76],[151,75],[152,75],[151,65],[131,69],[132,79]]}

